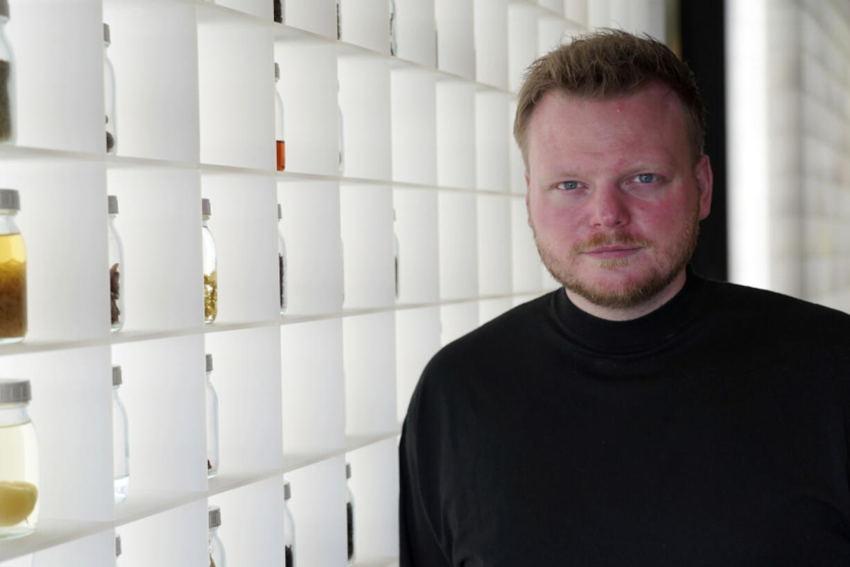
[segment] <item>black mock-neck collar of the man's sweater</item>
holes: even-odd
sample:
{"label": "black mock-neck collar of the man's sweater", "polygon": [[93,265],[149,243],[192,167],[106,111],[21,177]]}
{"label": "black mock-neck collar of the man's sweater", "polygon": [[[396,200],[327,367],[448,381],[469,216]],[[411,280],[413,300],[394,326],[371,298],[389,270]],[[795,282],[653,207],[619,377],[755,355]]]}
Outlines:
{"label": "black mock-neck collar of the man's sweater", "polygon": [[598,318],[575,306],[564,288],[554,295],[558,321],[571,341],[603,353],[651,352],[663,348],[700,314],[706,280],[687,267],[685,284],[670,301],[629,321]]}

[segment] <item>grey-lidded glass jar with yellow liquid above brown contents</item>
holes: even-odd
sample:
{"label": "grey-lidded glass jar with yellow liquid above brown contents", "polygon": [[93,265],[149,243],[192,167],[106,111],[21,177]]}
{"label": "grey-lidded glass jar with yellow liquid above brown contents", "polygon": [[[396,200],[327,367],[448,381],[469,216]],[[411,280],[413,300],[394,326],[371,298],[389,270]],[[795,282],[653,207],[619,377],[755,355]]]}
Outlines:
{"label": "grey-lidded glass jar with yellow liquid above brown contents", "polygon": [[26,335],[26,246],[15,222],[19,210],[18,192],[0,189],[0,344]]}

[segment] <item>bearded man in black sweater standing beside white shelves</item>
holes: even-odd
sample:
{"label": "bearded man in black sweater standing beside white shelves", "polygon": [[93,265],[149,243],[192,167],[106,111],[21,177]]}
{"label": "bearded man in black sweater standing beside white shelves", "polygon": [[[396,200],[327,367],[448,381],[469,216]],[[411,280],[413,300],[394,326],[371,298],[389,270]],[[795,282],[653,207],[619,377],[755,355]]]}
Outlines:
{"label": "bearded man in black sweater standing beside white shelves", "polygon": [[530,67],[514,134],[564,287],[424,370],[403,567],[850,565],[850,316],[690,269],[703,115],[649,38]]}

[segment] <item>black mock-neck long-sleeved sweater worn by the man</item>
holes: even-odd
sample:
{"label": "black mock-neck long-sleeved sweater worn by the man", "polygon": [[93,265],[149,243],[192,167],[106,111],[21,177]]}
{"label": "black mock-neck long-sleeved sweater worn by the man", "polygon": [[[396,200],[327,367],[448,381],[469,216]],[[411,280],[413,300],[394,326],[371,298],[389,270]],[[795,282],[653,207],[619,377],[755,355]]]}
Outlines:
{"label": "black mock-neck long-sleeved sweater worn by the man", "polygon": [[689,272],[611,322],[559,289],[424,370],[401,566],[846,567],[848,394],[842,312]]}

